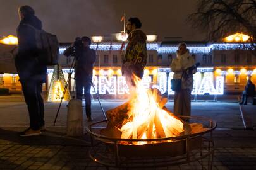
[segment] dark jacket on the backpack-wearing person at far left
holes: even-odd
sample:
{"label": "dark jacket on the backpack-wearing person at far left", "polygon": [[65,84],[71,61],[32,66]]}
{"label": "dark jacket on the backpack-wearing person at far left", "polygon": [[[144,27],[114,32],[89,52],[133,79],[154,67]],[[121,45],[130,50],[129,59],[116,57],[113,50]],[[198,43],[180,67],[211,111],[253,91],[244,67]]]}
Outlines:
{"label": "dark jacket on the backpack-wearing person at far left", "polygon": [[36,81],[46,81],[46,65],[39,64],[39,51],[35,42],[35,30],[30,28],[32,25],[38,30],[42,30],[42,22],[34,15],[25,16],[18,25],[18,54],[15,57],[15,65],[20,77],[20,81],[33,79]]}

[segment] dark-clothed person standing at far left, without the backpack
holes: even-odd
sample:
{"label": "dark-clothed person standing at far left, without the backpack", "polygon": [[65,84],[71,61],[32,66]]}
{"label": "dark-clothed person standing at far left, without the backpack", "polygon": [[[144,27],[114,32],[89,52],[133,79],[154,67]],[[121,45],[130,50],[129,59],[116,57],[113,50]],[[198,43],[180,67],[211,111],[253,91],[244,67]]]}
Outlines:
{"label": "dark-clothed person standing at far left, without the backpack", "polygon": [[[18,9],[20,25],[17,28],[18,54],[15,65],[20,77],[23,95],[28,106],[30,127],[21,136],[40,135],[44,130],[44,100],[42,99],[42,84],[46,82],[46,65],[41,65],[37,57],[35,30],[42,30],[42,22],[35,16],[30,6]],[[31,25],[31,26],[30,26]]]}

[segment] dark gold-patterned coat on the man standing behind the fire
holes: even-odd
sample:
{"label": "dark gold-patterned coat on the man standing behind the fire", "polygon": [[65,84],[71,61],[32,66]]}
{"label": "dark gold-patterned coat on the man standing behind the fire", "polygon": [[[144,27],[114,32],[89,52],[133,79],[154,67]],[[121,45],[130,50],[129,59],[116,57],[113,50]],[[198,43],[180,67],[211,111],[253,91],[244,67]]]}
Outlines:
{"label": "dark gold-patterned coat on the man standing behind the fire", "polygon": [[142,78],[144,67],[147,64],[147,36],[142,30],[136,29],[131,31],[128,41],[122,63],[122,73],[134,73]]}

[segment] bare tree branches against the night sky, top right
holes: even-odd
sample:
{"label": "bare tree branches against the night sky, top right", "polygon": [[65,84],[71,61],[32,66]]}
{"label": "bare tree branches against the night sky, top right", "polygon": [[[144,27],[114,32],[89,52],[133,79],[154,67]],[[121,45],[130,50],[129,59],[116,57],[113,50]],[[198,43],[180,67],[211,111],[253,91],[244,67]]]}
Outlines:
{"label": "bare tree branches against the night sky, top right", "polygon": [[198,0],[197,11],[188,21],[193,28],[207,31],[212,41],[236,31],[246,33],[256,56],[256,0]]}

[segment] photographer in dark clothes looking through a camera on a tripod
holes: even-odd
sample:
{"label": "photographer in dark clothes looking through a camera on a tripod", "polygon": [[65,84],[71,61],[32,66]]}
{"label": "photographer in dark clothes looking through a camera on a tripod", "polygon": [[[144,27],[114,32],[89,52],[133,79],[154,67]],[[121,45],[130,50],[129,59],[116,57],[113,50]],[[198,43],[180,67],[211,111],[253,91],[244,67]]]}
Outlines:
{"label": "photographer in dark clothes looking through a camera on a tripod", "polygon": [[63,54],[75,57],[76,98],[83,101],[83,88],[85,95],[85,111],[88,121],[92,121],[90,88],[92,86],[92,70],[96,60],[95,50],[90,49],[89,37],[76,38]]}

